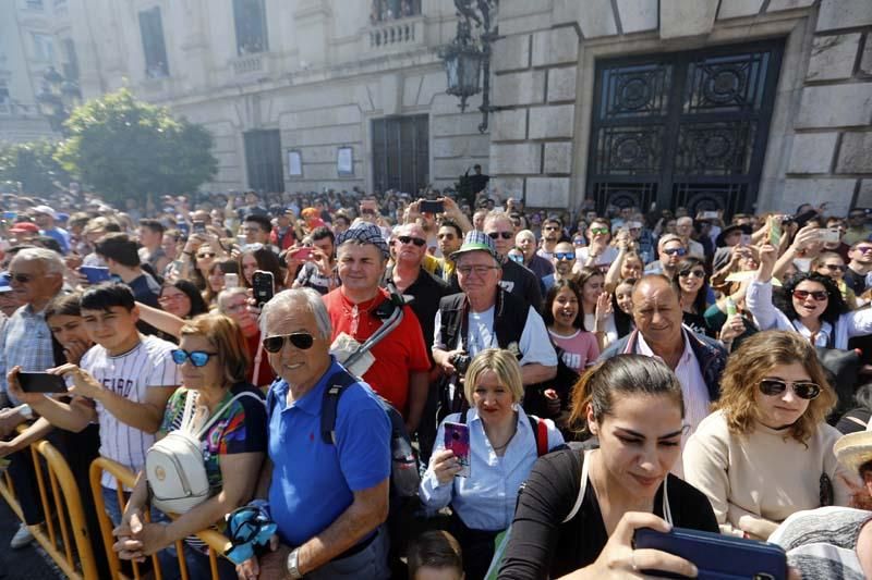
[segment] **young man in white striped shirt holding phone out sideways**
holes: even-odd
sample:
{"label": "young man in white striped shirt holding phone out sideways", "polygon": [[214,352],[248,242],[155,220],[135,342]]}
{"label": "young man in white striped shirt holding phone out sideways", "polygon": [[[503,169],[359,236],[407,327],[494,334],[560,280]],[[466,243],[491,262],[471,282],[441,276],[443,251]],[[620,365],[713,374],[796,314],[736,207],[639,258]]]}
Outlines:
{"label": "young man in white striped shirt holding phone out sideways", "polygon": [[[71,403],[41,394],[23,393],[19,368],[12,370],[10,391],[50,423],[68,431],[82,431],[89,423],[100,425],[100,455],[138,472],[145,453],[155,442],[164,409],[179,385],[178,367],[170,351],[175,345],[136,330],[140,310],[131,289],[107,283],[85,291],[82,319],[92,347],[80,365],[62,365],[48,372],[68,379]],[[102,477],[106,510],[117,526],[121,521],[116,480]]]}

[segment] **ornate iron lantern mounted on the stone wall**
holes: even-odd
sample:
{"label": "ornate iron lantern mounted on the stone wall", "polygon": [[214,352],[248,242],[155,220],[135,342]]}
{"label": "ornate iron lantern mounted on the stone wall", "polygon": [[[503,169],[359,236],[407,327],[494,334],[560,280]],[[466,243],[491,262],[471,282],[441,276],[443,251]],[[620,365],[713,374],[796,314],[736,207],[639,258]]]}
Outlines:
{"label": "ornate iron lantern mounted on the stone wall", "polygon": [[[482,92],[482,123],[479,132],[487,131],[491,107],[491,44],[498,38],[496,27],[491,29],[492,11],[498,0],[455,0],[457,9],[457,35],[453,41],[443,47],[439,57],[445,61],[448,81],[446,92],[460,97],[460,110],[467,110],[467,99]],[[475,28],[481,28],[477,38]]]}

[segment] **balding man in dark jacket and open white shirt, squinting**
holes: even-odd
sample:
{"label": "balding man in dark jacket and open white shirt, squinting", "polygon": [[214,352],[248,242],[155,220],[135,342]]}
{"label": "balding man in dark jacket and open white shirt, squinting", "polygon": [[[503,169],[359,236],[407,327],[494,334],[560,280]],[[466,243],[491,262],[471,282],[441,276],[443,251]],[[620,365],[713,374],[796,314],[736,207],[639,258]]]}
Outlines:
{"label": "balding man in dark jacket and open white shirt, squinting", "polygon": [[663,360],[681,383],[686,422],[690,425],[685,435],[690,436],[720,394],[727,351],[717,341],[682,326],[681,293],[665,275],[642,276],[632,296],[637,330],[606,348],[600,360],[621,354]]}

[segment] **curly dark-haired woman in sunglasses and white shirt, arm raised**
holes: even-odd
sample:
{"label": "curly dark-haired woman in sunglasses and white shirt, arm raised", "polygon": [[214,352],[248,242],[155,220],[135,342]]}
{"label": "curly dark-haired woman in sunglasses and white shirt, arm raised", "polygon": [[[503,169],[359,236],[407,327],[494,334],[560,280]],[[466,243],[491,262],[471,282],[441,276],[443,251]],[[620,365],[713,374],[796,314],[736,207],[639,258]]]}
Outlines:
{"label": "curly dark-haired woman in sunglasses and white shirt, arm raised", "polygon": [[833,279],[816,272],[799,273],[784,283],[784,304],[773,304],[772,272],[776,249],[760,248],[760,268],[748,287],[746,304],[760,330],[789,330],[812,345],[847,349],[852,336],[872,334],[872,309],[851,311]]}

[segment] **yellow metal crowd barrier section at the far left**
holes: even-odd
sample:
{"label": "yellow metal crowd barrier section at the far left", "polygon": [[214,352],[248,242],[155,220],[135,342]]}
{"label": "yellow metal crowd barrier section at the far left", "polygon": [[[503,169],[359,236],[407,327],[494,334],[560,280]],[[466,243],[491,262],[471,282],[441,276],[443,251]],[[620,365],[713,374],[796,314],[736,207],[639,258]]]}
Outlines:
{"label": "yellow metal crowd barrier section at the far left", "polygon": [[[40,456],[46,461],[49,489],[46,488],[46,478],[39,460]],[[31,445],[31,457],[36,472],[39,501],[45,515],[44,523],[29,528],[34,538],[68,578],[74,580],[98,580],[97,565],[94,560],[85,513],[82,507],[81,491],[76,485],[70,466],[66,465],[66,460],[60,452],[47,441],[33,443]],[[51,503],[49,502],[49,490],[51,492]],[[19,519],[23,521],[24,516],[9,471],[3,473],[2,481],[0,481],[0,495],[3,496]],[[59,530],[55,528],[52,515],[57,515]],[[73,539],[75,540],[75,554],[70,542],[70,530],[72,530]],[[60,539],[58,538],[58,531],[60,532]],[[58,547],[58,540],[60,540],[60,548]]]}

